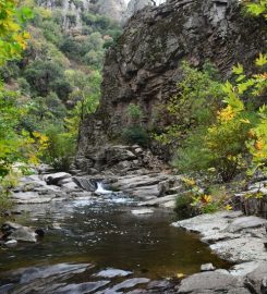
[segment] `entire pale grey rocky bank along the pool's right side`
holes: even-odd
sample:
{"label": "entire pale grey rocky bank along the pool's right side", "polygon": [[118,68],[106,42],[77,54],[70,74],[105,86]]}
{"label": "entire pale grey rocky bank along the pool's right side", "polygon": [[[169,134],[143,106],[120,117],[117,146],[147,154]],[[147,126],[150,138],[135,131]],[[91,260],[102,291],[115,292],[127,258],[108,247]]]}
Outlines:
{"label": "entire pale grey rocky bank along the pool's right side", "polygon": [[235,264],[229,271],[197,273],[178,293],[267,293],[267,221],[241,211],[202,215],[172,223],[201,240],[220,258]]}

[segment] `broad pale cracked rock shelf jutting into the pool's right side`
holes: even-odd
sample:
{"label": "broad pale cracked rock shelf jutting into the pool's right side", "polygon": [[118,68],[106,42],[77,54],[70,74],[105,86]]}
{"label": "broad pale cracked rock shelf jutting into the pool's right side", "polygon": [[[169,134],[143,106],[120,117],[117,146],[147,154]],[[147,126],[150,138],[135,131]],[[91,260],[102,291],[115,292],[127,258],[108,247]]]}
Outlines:
{"label": "broad pale cracked rock shelf jutting into the pool's right side", "polygon": [[243,217],[240,211],[221,211],[172,225],[199,233],[202,241],[211,243],[211,250],[220,258],[240,264],[267,260],[267,235],[263,229],[266,223],[266,220],[257,217]]}

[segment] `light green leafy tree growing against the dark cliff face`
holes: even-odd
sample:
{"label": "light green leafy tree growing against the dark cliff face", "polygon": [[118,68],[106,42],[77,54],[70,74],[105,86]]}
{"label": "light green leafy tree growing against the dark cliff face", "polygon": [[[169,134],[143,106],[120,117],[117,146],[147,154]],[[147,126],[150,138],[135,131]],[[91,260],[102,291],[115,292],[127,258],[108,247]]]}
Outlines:
{"label": "light green leafy tree growing against the dark cliff face", "polygon": [[178,137],[184,138],[192,130],[213,123],[224,96],[218,72],[210,63],[199,71],[183,62],[182,71],[178,95],[166,108],[172,124],[156,135],[163,145],[177,146]]}

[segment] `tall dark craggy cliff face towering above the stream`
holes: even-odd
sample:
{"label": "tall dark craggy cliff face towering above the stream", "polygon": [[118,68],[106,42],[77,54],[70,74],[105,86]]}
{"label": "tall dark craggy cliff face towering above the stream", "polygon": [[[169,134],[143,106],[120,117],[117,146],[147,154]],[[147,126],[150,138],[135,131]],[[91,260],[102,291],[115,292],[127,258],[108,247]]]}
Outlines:
{"label": "tall dark craggy cliff face towering above the stream", "polygon": [[166,125],[158,109],[175,93],[182,60],[196,66],[210,60],[224,77],[236,62],[253,64],[265,48],[260,27],[234,0],[170,0],[137,12],[107,52],[100,106],[83,122],[78,157],[93,164],[96,150],[120,137],[130,103],[141,106],[147,128]]}

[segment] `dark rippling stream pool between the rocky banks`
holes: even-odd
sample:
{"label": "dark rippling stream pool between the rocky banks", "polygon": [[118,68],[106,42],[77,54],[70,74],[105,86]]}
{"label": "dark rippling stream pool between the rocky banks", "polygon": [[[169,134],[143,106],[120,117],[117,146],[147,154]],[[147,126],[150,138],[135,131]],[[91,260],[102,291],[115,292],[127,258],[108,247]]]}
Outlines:
{"label": "dark rippling stream pool between the rocky banks", "polygon": [[[228,267],[196,235],[170,226],[174,215],[162,209],[133,215],[134,206],[131,198],[104,192],[89,199],[32,205],[16,221],[45,229],[45,237],[0,249],[0,293],[124,293],[116,292],[114,279],[121,283],[191,274],[206,262]],[[96,277],[110,268],[131,273]],[[106,284],[113,292],[105,292]]]}

